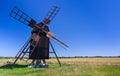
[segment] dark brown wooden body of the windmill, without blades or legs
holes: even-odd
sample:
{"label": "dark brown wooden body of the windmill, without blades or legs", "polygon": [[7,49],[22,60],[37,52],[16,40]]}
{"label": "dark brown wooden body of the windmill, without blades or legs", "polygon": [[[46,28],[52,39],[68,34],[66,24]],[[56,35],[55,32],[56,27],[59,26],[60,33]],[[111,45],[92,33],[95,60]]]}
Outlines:
{"label": "dark brown wooden body of the windmill, without blades or legs", "polygon": [[[38,24],[42,29],[49,32],[48,26],[44,25],[43,23]],[[38,36],[38,44],[35,47],[33,53],[32,49],[34,46],[30,45],[30,55],[29,59],[48,59],[49,58],[49,38],[46,36],[42,30],[37,28],[33,28],[31,32],[31,43],[35,40],[35,37]]]}

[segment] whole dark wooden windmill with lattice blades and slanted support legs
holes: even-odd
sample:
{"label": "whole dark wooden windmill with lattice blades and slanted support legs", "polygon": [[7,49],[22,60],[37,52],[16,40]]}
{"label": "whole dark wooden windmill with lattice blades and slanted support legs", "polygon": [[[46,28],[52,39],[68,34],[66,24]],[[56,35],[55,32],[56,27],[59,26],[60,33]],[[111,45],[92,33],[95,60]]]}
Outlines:
{"label": "whole dark wooden windmill with lattice blades and slanted support legs", "polygon": [[[55,54],[55,57],[57,58],[57,61],[61,66],[60,60],[50,40],[55,41],[63,48],[68,48],[69,46],[64,41],[53,35],[53,33],[49,31],[49,28],[47,26],[57,15],[59,10],[59,7],[53,6],[45,16],[43,21],[37,24],[34,19],[32,19],[16,6],[12,9],[10,13],[10,16],[12,18],[32,28],[31,37],[26,41],[26,43],[16,54],[16,59],[13,64],[16,64],[18,59],[23,59],[23,57],[28,56],[28,59],[32,59],[30,66],[34,65],[35,67],[41,67],[41,60],[43,60],[43,64],[46,64],[45,59],[49,59],[49,54],[53,53]],[[49,46],[51,47],[52,52],[49,51]],[[35,60],[36,63],[34,63]]]}

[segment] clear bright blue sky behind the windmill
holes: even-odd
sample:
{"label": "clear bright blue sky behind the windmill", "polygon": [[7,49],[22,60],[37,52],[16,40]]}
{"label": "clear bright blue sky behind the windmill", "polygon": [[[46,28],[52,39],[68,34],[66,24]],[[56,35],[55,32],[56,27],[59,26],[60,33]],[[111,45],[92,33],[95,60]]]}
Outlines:
{"label": "clear bright blue sky behind the windmill", "polygon": [[70,45],[54,43],[58,56],[120,55],[120,0],[0,0],[0,56],[15,56],[30,37],[31,28],[9,16],[14,6],[39,23],[54,5],[61,10],[48,26]]}

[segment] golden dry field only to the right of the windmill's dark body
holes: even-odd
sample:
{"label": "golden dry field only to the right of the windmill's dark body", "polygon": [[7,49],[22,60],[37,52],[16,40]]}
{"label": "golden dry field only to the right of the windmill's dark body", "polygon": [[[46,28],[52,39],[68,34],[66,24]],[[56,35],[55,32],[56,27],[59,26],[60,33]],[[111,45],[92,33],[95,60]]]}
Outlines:
{"label": "golden dry field only to the right of the windmill's dark body", "polygon": [[[62,64],[95,64],[95,65],[120,65],[120,58],[64,58]],[[49,63],[57,63],[56,59],[49,59]]]}

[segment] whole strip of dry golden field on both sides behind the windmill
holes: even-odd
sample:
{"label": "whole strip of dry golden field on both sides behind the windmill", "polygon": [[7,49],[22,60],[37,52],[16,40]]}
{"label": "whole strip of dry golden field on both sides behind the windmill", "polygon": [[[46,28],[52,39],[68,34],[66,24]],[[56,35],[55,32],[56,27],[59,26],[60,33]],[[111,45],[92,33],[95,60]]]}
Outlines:
{"label": "whole strip of dry golden field on both sides behind the windmill", "polygon": [[[26,60],[26,59],[24,59]],[[31,60],[25,62],[24,60],[18,60],[18,64],[29,64]],[[0,59],[0,66],[7,64],[7,62],[13,62],[14,59]],[[62,58],[61,64],[94,64],[94,65],[120,65],[120,58]],[[48,64],[58,63],[56,58],[48,59]]]}

